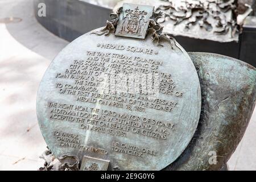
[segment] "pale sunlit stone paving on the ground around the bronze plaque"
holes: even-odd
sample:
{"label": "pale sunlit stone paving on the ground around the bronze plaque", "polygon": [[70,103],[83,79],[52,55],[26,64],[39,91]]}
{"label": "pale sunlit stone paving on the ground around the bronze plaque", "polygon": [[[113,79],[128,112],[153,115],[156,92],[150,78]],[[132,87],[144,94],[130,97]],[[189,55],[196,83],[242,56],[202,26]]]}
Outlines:
{"label": "pale sunlit stone paving on the ground around the bronze plaque", "polygon": [[[34,18],[31,0],[1,0],[0,170],[36,170],[46,150],[36,119],[36,91],[51,60],[68,42]],[[230,170],[256,170],[256,110],[245,136],[229,160]]]}

